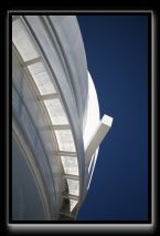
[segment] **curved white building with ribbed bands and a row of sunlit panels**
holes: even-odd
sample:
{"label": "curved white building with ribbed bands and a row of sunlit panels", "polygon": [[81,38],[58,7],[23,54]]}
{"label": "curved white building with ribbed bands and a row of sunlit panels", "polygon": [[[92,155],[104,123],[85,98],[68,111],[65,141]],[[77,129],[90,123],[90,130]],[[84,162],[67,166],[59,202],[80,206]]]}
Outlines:
{"label": "curved white building with ribbed bands and a row of sunlit panels", "polygon": [[[45,209],[42,218],[74,219],[87,193],[99,143],[111,126],[99,121],[76,18],[13,17],[12,42],[13,136],[36,182]],[[15,173],[12,177],[19,185]],[[20,218],[19,209],[12,217]]]}

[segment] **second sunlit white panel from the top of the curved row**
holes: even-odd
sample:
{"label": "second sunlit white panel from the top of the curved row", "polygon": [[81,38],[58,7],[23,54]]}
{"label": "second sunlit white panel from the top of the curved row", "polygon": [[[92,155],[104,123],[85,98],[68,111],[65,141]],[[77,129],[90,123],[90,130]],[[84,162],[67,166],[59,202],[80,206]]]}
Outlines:
{"label": "second sunlit white panel from the top of the curved row", "polygon": [[41,95],[56,93],[51,78],[45,70],[43,62],[38,62],[28,66]]}

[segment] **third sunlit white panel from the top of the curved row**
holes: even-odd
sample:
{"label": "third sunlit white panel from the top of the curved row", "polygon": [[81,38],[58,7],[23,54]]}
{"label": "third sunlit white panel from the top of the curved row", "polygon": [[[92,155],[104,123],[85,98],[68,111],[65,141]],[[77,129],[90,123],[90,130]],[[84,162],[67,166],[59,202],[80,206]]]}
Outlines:
{"label": "third sunlit white panel from the top of the curved row", "polygon": [[49,112],[49,115],[50,115],[50,119],[51,119],[51,122],[53,125],[54,124],[55,125],[56,124],[68,124],[64,109],[62,107],[62,104],[58,99],[45,100],[44,104],[46,106],[46,110]]}

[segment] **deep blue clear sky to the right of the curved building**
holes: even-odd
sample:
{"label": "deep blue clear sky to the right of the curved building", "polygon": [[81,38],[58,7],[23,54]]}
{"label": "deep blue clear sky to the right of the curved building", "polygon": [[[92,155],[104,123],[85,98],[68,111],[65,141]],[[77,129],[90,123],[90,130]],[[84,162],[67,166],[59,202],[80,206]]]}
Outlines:
{"label": "deep blue clear sky to the right of the curved building", "polygon": [[78,16],[100,115],[114,117],[78,220],[148,217],[147,16]]}

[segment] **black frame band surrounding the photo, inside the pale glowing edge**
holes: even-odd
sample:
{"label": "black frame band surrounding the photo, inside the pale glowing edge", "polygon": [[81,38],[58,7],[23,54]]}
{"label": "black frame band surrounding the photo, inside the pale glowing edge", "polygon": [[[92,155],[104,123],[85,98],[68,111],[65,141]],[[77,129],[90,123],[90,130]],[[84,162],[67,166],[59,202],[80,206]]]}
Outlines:
{"label": "black frame band surrounding the photo, inside the pale glowing edge", "polygon": [[[57,11],[54,12],[52,11],[54,14],[64,14],[64,12],[62,11]],[[22,16],[22,14],[51,14],[51,12],[49,11],[30,11],[30,12],[25,12],[25,11],[9,11],[8,14],[8,20],[9,20],[9,107],[12,107],[12,40],[11,40],[11,35],[12,35],[12,16]],[[65,11],[65,14],[89,14],[89,16],[105,16],[105,14],[113,14],[113,16],[117,16],[117,14],[138,14],[138,16],[148,16],[148,220],[71,220],[71,222],[66,222],[66,220],[12,220],[11,216],[12,216],[12,111],[10,109],[9,111],[9,225],[13,224],[45,224],[45,225],[53,225],[54,224],[67,224],[67,225],[72,225],[72,224],[151,224],[152,223],[152,199],[153,196],[151,193],[152,191],[152,20],[153,20],[153,16],[150,11],[146,10],[146,11],[121,11],[121,12],[105,12],[105,11],[100,11],[100,12],[96,12],[96,11]],[[7,166],[8,167],[8,166]],[[8,173],[8,172],[7,172]]]}

